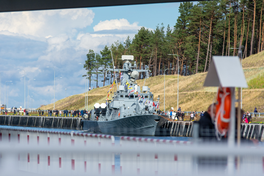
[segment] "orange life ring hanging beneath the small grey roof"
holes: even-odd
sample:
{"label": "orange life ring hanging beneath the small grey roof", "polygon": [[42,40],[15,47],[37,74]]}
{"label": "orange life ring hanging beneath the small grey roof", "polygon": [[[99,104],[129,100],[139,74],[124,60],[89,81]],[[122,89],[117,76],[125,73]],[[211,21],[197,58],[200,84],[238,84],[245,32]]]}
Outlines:
{"label": "orange life ring hanging beneath the small grey roof", "polygon": [[219,87],[216,103],[217,131],[224,135],[229,127],[231,111],[231,90],[228,87]]}

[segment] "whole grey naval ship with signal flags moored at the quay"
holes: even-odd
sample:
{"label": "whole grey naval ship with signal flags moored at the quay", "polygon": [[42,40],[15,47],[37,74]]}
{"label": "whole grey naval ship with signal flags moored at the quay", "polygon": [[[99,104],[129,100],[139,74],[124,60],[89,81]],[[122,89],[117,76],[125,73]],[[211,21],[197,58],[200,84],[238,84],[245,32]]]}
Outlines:
{"label": "whole grey naval ship with signal flags moored at the quay", "polygon": [[121,84],[111,100],[107,97],[107,103],[94,104],[90,117],[81,121],[82,129],[84,132],[112,135],[154,136],[169,116],[157,114],[155,109],[158,109],[159,98],[154,101],[148,86],[141,89],[137,85],[139,72],[147,70],[136,69],[136,63],[132,63],[133,56],[123,55],[121,59],[124,61],[123,69],[116,69]]}

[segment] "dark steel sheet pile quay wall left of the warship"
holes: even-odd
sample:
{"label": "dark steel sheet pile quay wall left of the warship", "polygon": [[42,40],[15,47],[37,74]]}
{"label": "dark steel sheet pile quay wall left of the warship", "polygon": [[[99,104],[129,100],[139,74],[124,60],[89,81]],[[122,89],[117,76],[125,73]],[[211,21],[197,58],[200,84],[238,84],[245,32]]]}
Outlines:
{"label": "dark steel sheet pile quay wall left of the warship", "polygon": [[50,117],[50,116],[24,116],[0,115],[0,125],[80,129],[81,118],[76,117]]}

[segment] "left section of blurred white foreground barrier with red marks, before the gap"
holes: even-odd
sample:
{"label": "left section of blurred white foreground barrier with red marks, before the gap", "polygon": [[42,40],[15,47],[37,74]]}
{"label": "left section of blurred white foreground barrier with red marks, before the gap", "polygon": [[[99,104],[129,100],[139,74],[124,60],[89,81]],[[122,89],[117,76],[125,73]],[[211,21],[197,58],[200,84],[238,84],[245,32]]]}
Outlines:
{"label": "left section of blurred white foreground barrier with red marks, before the gap", "polygon": [[[13,156],[15,161],[9,164],[11,168],[27,173],[106,175],[114,172],[115,158],[114,153],[103,151],[114,145],[114,141],[110,135],[0,128],[0,146],[16,146],[20,150],[11,153],[0,150],[0,170],[6,171],[3,163]],[[90,152],[90,149],[101,152]]]}

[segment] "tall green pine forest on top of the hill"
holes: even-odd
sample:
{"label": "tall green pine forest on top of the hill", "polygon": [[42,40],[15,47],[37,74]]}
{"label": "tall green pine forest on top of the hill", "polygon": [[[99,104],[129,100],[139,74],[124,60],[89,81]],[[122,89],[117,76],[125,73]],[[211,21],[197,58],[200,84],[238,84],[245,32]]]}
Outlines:
{"label": "tall green pine forest on top of the hill", "polygon": [[[212,56],[237,56],[240,49],[244,59],[264,48],[263,4],[264,0],[182,2],[174,27],[142,27],[124,43],[116,41],[100,53],[89,50],[84,68],[88,76],[95,75],[88,77],[90,81],[98,86],[100,80],[105,86],[113,81],[113,72],[105,69],[113,67],[112,57],[115,68],[121,69],[122,55],[133,55],[137,69],[149,69],[148,76],[206,72]],[[139,79],[145,76],[140,73]]]}

